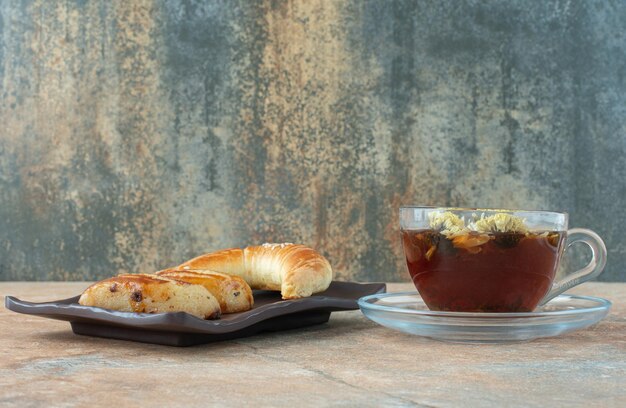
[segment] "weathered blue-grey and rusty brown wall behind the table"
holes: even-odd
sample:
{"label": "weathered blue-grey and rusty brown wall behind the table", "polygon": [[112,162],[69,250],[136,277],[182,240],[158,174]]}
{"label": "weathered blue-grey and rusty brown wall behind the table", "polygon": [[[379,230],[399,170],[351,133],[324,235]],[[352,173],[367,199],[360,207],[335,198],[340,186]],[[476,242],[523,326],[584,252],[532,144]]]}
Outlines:
{"label": "weathered blue-grey and rusty brown wall behind the table", "polygon": [[625,280],[623,1],[0,1],[0,279],[310,244],[402,204],[570,212]]}

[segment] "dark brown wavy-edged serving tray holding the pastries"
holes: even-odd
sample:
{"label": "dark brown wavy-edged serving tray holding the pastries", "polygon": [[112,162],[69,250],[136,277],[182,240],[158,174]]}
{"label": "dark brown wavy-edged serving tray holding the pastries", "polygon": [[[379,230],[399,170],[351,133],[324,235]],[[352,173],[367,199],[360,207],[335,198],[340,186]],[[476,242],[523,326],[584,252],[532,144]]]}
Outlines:
{"label": "dark brown wavy-edged serving tray holding the pastries", "polygon": [[202,320],[184,312],[129,313],[81,306],[79,296],[45,303],[7,296],[5,306],[17,313],[69,321],[76,334],[192,346],[325,323],[331,312],[358,309],[359,298],[385,290],[384,283],[333,281],[326,291],[303,299],[282,300],[278,292],[254,291],[252,310],[222,315],[219,320]]}

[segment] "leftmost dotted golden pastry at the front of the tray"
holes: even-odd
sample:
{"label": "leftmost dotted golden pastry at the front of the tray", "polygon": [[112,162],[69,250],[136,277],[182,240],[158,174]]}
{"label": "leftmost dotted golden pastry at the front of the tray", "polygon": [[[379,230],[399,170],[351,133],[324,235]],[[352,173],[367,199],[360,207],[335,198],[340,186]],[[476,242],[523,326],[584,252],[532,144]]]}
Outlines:
{"label": "leftmost dotted golden pastry at the front of the tray", "polygon": [[187,312],[202,319],[216,319],[221,314],[217,299],[203,286],[144,274],[96,282],[78,303],[122,312]]}

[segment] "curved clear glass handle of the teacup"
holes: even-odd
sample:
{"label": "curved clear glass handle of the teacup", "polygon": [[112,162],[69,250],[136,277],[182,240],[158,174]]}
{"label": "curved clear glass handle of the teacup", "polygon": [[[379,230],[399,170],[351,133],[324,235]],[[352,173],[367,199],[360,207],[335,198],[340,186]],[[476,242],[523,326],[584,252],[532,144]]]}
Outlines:
{"label": "curved clear glass handle of the teacup", "polygon": [[583,242],[591,248],[591,261],[584,268],[574,273],[567,274],[563,279],[554,282],[550,292],[541,300],[542,305],[566,290],[595,278],[604,270],[604,266],[606,265],[606,246],[602,238],[595,232],[584,228],[572,228],[568,230],[565,250],[567,251],[569,247],[578,242]]}

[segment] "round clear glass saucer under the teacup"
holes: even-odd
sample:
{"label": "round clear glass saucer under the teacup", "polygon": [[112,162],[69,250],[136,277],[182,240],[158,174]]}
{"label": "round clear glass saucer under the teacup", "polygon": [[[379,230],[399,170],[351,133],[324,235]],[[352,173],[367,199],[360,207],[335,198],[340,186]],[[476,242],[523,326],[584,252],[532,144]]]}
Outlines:
{"label": "round clear glass saucer under the teacup", "polygon": [[376,323],[405,333],[457,343],[508,343],[589,327],[608,314],[611,302],[560,295],[527,313],[436,312],[417,292],[402,292],[362,297],[359,307]]}

